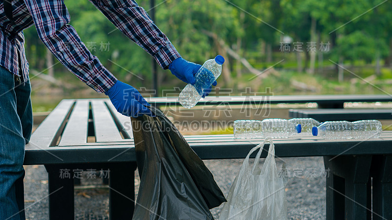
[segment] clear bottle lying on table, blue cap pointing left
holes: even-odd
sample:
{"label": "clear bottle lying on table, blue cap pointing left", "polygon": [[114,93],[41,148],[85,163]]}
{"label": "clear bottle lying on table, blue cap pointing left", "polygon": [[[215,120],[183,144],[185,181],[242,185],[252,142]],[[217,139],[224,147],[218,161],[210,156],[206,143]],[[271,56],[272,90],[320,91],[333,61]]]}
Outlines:
{"label": "clear bottle lying on table, blue cap pointing left", "polygon": [[314,136],[325,139],[378,138],[381,132],[382,125],[377,120],[327,121],[312,129]]}

